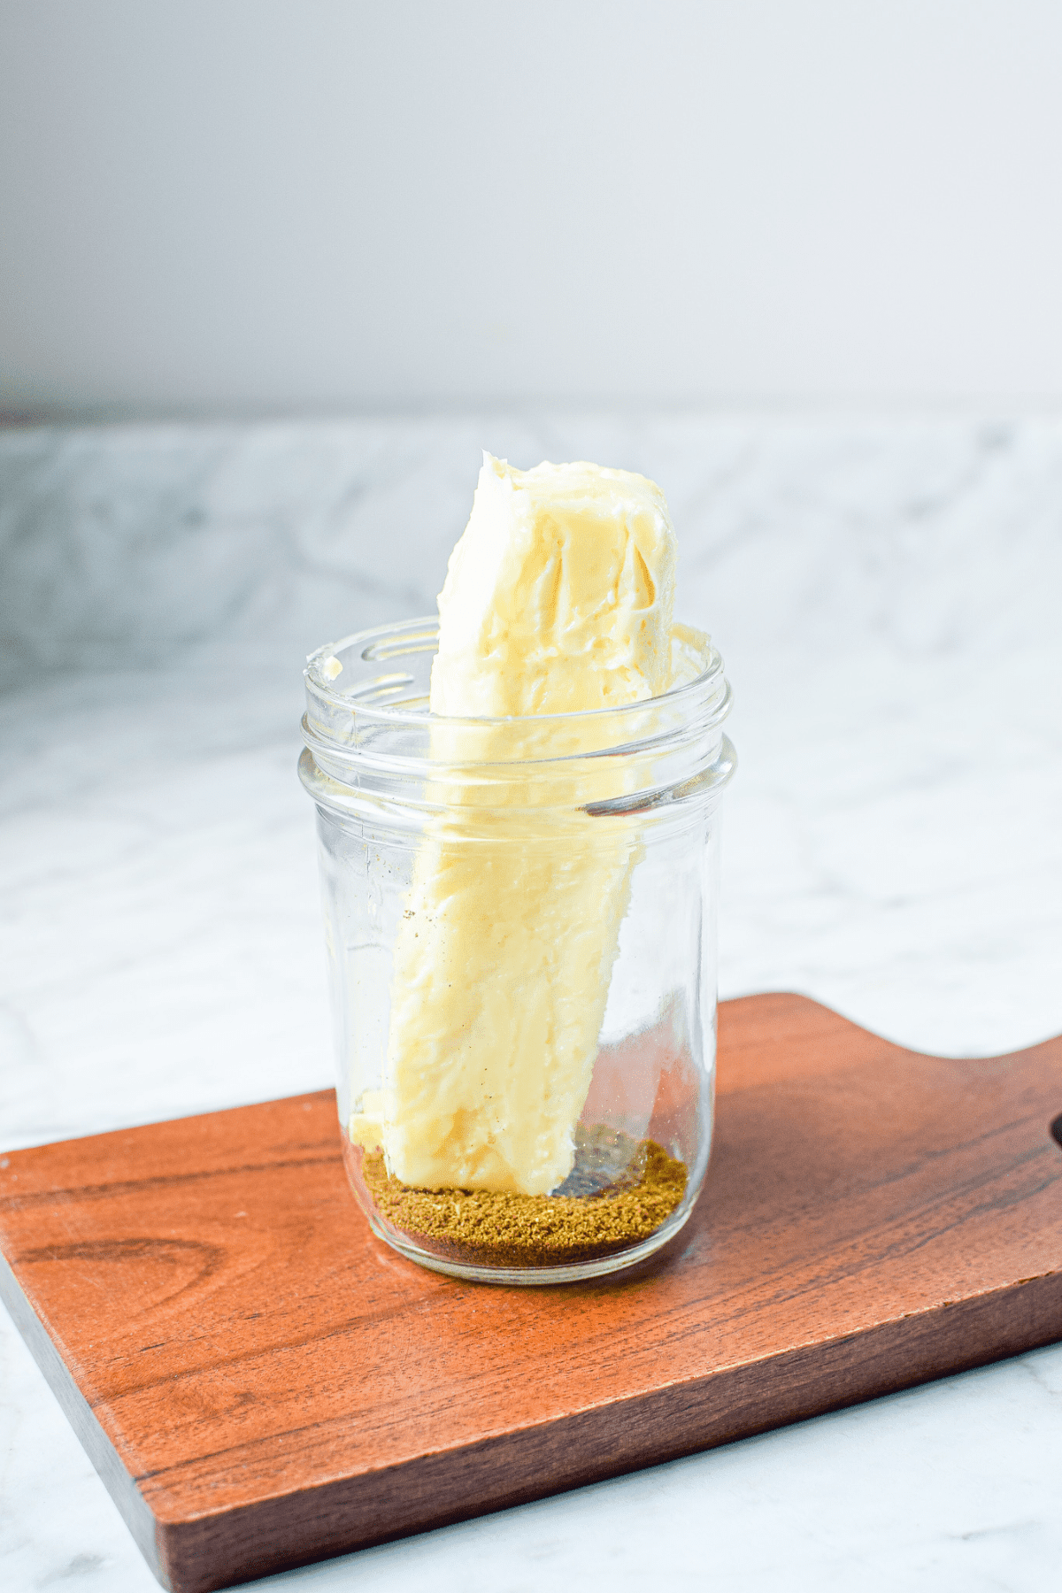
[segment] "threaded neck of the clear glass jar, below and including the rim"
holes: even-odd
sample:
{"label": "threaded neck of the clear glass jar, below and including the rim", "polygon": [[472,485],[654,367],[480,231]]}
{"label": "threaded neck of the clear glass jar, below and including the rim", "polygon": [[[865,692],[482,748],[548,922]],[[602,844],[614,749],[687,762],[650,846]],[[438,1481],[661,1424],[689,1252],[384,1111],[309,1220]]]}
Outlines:
{"label": "threaded neck of the clear glass jar, below and including the rim", "polygon": [[691,781],[707,795],[734,766],[721,731],[731,688],[707,636],[677,626],[674,637],[675,685],[661,696],[576,714],[460,718],[428,707],[438,618],[358,631],[307,660],[303,784],[344,811],[387,800],[435,811],[626,812],[693,789]]}

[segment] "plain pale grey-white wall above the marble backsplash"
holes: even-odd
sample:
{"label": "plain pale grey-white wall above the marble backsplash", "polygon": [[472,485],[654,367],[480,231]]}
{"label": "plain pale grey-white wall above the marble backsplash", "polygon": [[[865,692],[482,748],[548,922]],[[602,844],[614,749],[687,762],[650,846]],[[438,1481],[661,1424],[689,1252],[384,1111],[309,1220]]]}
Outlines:
{"label": "plain pale grey-white wall above the marble backsplash", "polygon": [[0,409],[1054,403],[1054,0],[0,0]]}

